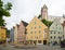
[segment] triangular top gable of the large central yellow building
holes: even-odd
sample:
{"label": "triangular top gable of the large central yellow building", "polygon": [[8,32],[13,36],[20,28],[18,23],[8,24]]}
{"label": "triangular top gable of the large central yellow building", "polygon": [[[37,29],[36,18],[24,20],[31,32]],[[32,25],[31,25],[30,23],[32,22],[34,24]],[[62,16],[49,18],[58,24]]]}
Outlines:
{"label": "triangular top gable of the large central yellow building", "polygon": [[[31,21],[30,21],[30,23],[29,23],[29,25],[26,27],[26,28],[29,28],[30,26],[39,26],[39,25],[41,25],[41,26],[43,26],[43,27],[47,27],[38,17],[34,17]],[[48,28],[48,27],[47,27]]]}

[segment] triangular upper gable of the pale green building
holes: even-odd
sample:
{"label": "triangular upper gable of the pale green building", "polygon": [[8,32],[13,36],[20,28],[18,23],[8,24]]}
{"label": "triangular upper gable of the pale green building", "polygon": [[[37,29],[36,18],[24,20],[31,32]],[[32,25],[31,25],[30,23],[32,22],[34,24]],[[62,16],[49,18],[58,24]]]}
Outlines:
{"label": "triangular upper gable of the pale green building", "polygon": [[54,22],[50,26],[50,30],[63,30],[63,26],[58,20],[54,20]]}

